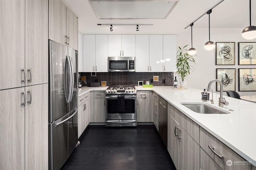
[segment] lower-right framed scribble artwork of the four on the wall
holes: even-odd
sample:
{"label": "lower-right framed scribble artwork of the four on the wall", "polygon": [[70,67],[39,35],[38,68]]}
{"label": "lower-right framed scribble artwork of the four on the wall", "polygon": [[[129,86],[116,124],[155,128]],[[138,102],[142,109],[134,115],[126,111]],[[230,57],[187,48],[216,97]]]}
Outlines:
{"label": "lower-right framed scribble artwork of the four on the wall", "polygon": [[256,68],[239,68],[239,91],[256,91]]}

